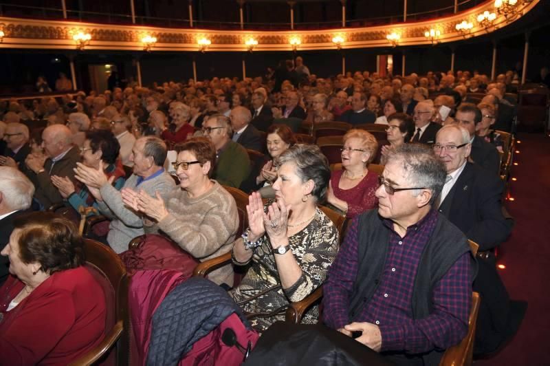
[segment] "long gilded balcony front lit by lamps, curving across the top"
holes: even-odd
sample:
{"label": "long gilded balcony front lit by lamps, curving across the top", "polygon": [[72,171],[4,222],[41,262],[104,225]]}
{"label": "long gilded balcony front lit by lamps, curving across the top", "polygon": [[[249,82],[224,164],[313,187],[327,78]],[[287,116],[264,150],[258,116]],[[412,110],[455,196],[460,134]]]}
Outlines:
{"label": "long gilded balcony front lit by lamps, curving across the top", "polygon": [[[17,19],[0,17],[0,29],[5,36],[0,48],[57,49],[74,50],[76,43],[72,39],[75,32],[91,34],[91,41],[85,50],[127,50],[141,51],[144,46],[142,36],[149,34],[157,38],[152,51],[197,51],[200,50],[197,41],[201,38],[210,39],[211,51],[247,51],[245,40],[253,37],[258,41],[254,51],[290,51],[289,40],[300,38],[298,50],[334,50],[334,36],[344,39],[342,49],[388,47],[391,44],[386,35],[392,32],[399,34],[398,46],[430,45],[432,42],[424,36],[427,30],[441,32],[441,43],[461,41],[465,37],[481,36],[503,28],[509,23],[520,19],[523,14],[532,10],[540,0],[530,3],[518,1],[518,16],[507,19],[498,15],[490,28],[483,28],[477,22],[478,14],[495,12],[494,1],[486,1],[465,12],[449,17],[415,23],[397,23],[366,28],[341,28],[333,30],[300,30],[300,31],[221,31],[201,30],[197,28],[175,29],[155,28],[137,25],[104,25],[96,23],[78,23],[72,21],[43,21],[34,19]],[[455,28],[462,21],[472,22],[474,27],[468,34],[458,32]]]}

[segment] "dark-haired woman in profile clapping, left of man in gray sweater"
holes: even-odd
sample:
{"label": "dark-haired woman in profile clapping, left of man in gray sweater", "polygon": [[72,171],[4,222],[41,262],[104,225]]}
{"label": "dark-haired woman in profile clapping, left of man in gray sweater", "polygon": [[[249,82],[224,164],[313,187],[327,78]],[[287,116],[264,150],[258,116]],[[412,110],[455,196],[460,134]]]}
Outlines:
{"label": "dark-haired woman in profile clapping, left of man in gray sweater", "polygon": [[[118,159],[120,144],[113,136],[111,131],[98,129],[86,133],[84,146],[80,148],[83,164],[93,169],[102,169],[109,180],[113,179],[113,186],[120,190],[124,186],[124,169],[122,163]],[[80,212],[80,208],[94,206],[98,208],[94,196],[90,194],[85,184],[80,182],[73,184],[68,177],[59,177],[52,175],[52,183],[57,187],[61,197],[67,200],[76,212]]]}

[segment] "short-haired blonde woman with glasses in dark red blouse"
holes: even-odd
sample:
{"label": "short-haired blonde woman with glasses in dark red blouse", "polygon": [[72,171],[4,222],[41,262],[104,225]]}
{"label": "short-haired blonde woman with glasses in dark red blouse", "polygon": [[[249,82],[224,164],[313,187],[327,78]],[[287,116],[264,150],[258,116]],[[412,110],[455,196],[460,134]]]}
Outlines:
{"label": "short-haired blonde woman with glasses in dark red blouse", "polygon": [[342,169],[331,175],[327,202],[353,218],[378,204],[374,195],[378,175],[367,169],[375,158],[378,142],[362,129],[347,131],[343,140]]}

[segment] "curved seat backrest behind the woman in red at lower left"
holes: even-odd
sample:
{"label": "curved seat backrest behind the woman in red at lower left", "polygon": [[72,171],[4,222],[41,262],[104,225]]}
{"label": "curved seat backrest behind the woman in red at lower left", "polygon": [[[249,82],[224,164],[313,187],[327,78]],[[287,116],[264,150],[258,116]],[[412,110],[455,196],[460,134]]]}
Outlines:
{"label": "curved seat backrest behind the woman in red at lower left", "polygon": [[[86,264],[90,272],[104,288],[107,305],[107,323],[113,327],[122,321],[123,330],[115,343],[116,365],[129,365],[130,333],[128,312],[128,278],[120,257],[99,241],[85,239]],[[109,290],[110,289],[110,290]],[[109,328],[105,330],[107,334]],[[97,352],[105,352],[97,349]],[[111,352],[107,350],[107,352]]]}

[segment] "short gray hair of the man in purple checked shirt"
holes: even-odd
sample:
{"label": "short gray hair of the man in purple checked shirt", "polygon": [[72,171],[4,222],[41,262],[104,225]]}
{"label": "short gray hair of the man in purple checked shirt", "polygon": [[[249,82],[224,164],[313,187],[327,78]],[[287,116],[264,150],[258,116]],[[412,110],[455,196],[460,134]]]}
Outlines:
{"label": "short gray hair of the man in purple checked shirt", "polygon": [[[441,194],[447,170],[445,164],[435,156],[432,149],[422,144],[402,144],[392,149],[386,160],[386,165],[391,162],[401,163],[404,171],[409,173],[412,186],[423,187],[432,191],[430,205],[433,205]],[[418,195],[419,191],[413,191]]]}

